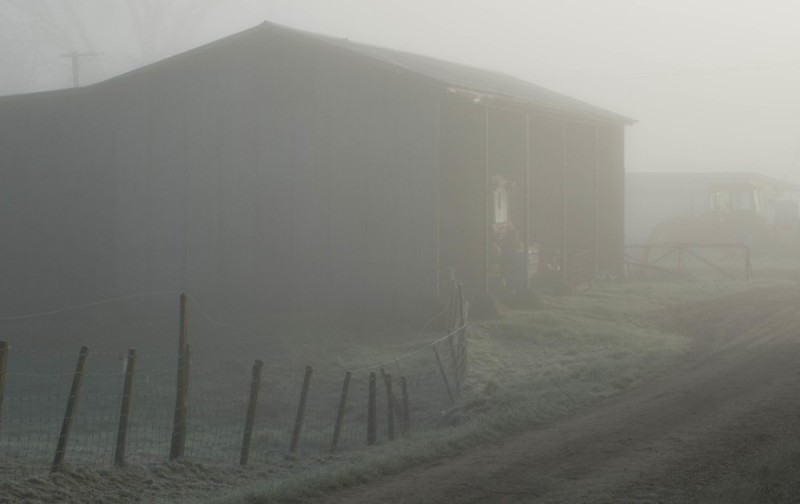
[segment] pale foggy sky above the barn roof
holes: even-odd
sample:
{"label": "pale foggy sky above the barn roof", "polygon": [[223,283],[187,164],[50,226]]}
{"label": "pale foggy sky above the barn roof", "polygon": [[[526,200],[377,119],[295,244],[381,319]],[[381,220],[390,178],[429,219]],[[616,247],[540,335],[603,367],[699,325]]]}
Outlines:
{"label": "pale foggy sky above the barn roof", "polygon": [[639,121],[629,171],[800,182],[793,0],[0,0],[0,93],[103,80],[269,20],[506,72]]}

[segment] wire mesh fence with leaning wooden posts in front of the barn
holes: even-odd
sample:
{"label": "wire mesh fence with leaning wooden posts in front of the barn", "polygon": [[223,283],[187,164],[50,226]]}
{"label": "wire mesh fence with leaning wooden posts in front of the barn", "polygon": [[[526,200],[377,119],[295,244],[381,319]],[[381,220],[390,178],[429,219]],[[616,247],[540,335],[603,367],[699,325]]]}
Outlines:
{"label": "wire mesh fence with leaning wooden posts in front of the barn", "polygon": [[[192,461],[264,463],[290,453],[379,445],[436,428],[466,371],[460,290],[454,290],[444,315],[449,329],[437,339],[358,369],[277,360],[256,364],[221,357],[212,345],[187,345],[186,361],[174,351],[134,355],[90,348],[79,372],[77,348],[4,344],[0,466],[59,470],[56,452],[62,444],[68,467],[164,462],[175,455],[176,436],[183,440],[180,457]],[[182,371],[188,379],[183,392]],[[181,401],[185,424],[176,420]]]}

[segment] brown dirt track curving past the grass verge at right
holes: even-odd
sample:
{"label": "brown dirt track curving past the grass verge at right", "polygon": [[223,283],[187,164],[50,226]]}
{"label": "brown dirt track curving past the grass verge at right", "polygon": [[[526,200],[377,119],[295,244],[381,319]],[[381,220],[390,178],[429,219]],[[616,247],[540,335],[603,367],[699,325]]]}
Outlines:
{"label": "brown dirt track curving past the grass verge at right", "polygon": [[682,502],[800,436],[800,289],[659,314],[691,335],[681,369],[499,446],[318,501]]}

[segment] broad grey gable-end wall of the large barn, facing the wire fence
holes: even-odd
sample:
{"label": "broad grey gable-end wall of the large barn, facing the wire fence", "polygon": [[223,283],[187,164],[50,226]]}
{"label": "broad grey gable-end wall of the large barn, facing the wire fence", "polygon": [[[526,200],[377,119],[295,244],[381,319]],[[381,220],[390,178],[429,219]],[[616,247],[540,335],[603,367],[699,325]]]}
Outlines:
{"label": "broad grey gable-end wall of the large barn, facing the wire fence", "polygon": [[[6,101],[2,147],[35,197],[4,204],[17,226],[4,266],[61,286],[9,312],[172,290],[226,312],[432,299],[438,100],[354,56],[259,34],[79,96]],[[75,181],[48,193],[56,176]],[[34,248],[58,251],[47,260],[64,281],[20,256]]]}

